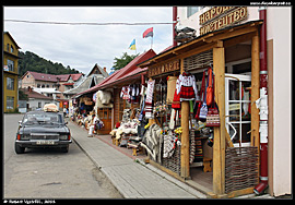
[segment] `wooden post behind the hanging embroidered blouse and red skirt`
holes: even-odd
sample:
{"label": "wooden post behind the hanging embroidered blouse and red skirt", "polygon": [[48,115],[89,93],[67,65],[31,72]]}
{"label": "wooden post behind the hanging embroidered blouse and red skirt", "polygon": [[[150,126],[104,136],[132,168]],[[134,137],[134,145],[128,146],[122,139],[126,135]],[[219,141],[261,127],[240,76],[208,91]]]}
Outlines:
{"label": "wooden post behind the hanging embroidered blouse and red skirt", "polygon": [[[184,59],[180,59],[180,73],[184,71]],[[189,101],[181,101],[181,128],[180,176],[189,179]]]}

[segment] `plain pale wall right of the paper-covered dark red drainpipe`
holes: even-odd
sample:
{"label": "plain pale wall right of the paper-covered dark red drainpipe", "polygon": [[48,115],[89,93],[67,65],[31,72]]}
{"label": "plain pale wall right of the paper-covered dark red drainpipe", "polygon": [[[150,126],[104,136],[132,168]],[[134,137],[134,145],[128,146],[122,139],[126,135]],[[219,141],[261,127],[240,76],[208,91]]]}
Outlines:
{"label": "plain pale wall right of the paper-covered dark red drainpipe", "polygon": [[273,38],[273,193],[291,194],[291,8],[268,8]]}

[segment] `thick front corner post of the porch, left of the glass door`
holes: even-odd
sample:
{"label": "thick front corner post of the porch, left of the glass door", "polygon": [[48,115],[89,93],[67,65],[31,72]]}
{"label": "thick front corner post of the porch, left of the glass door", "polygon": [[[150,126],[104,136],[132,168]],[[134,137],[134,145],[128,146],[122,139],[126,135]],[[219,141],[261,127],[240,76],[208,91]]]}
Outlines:
{"label": "thick front corner post of the porch, left of the glass door", "polygon": [[215,73],[214,94],[220,108],[221,125],[214,128],[213,146],[213,192],[225,192],[225,56],[224,48],[213,48],[213,70]]}

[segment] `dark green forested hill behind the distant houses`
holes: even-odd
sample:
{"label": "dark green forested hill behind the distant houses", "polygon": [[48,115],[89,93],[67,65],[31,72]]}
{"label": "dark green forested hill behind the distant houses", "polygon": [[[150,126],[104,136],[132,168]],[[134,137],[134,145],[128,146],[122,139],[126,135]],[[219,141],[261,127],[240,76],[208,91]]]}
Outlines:
{"label": "dark green forested hill behind the distant houses", "polygon": [[19,52],[19,75],[23,76],[26,71],[35,71],[38,73],[48,73],[48,74],[72,74],[79,73],[78,70],[71,69],[70,65],[67,68],[61,63],[54,63],[50,60],[46,60],[34,52],[25,51]]}

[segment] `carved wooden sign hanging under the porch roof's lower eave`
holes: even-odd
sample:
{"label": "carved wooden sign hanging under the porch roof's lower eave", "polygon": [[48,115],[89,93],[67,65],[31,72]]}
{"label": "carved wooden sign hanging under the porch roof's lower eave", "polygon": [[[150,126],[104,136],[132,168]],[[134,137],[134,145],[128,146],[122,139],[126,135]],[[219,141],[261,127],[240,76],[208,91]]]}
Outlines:
{"label": "carved wooden sign hanging under the porch roof's lower eave", "polygon": [[175,60],[175,61],[167,62],[167,63],[160,64],[160,65],[150,67],[149,71],[148,71],[148,76],[152,77],[155,75],[160,75],[163,73],[168,73],[168,72],[173,72],[173,71],[177,71],[177,70],[180,70],[180,61],[179,60]]}

